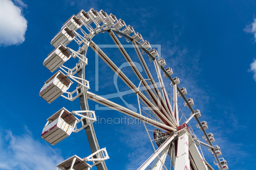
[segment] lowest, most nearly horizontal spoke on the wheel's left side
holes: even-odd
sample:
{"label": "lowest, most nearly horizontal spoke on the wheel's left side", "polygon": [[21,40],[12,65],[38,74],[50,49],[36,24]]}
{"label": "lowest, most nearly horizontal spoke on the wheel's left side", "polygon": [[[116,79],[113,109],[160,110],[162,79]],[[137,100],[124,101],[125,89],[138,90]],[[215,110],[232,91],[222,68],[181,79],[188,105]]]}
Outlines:
{"label": "lowest, most nearly horizontal spoke on the wheel's left side", "polygon": [[124,113],[124,114],[126,114],[128,116],[131,116],[131,117],[135,118],[135,119],[143,120],[145,123],[148,123],[149,125],[155,126],[156,128],[160,128],[160,129],[162,129],[162,130],[164,130],[166,132],[176,131],[176,129],[171,128],[170,126],[164,125],[163,123],[160,123],[160,122],[158,122],[158,121],[156,121],[154,119],[150,119],[150,118],[148,118],[146,116],[142,116],[139,113],[133,112],[132,110],[129,110],[129,109],[127,109],[127,108],[125,108],[125,107],[123,107],[123,106],[121,106],[119,104],[111,102],[110,100],[107,100],[107,99],[105,99],[103,97],[100,97],[100,96],[98,96],[96,94],[93,94],[93,93],[91,93],[89,91],[87,91],[86,94],[87,94],[87,98],[92,100],[92,101],[95,101],[95,102],[97,102],[99,104],[107,106],[107,107],[109,107],[109,108],[111,108],[113,110],[116,110],[118,112]]}

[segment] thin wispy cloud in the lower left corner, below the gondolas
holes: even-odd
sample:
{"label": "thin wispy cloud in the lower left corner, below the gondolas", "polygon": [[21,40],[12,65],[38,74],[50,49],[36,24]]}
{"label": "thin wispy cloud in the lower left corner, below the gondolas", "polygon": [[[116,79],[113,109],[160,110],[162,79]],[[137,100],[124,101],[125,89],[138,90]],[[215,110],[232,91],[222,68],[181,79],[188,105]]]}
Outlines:
{"label": "thin wispy cloud in the lower left corner, below the gondolas", "polygon": [[64,160],[51,146],[35,140],[28,129],[18,136],[7,131],[5,140],[0,138],[0,153],[1,170],[54,169]]}

